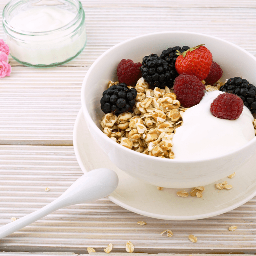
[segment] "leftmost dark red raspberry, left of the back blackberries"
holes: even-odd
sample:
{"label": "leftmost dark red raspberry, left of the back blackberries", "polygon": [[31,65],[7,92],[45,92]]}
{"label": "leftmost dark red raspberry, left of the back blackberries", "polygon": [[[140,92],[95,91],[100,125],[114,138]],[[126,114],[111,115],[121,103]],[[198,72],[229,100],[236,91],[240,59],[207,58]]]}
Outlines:
{"label": "leftmost dark red raspberry, left of the back blackberries", "polygon": [[135,85],[141,77],[141,63],[134,63],[132,60],[121,60],[117,66],[117,77],[119,83]]}

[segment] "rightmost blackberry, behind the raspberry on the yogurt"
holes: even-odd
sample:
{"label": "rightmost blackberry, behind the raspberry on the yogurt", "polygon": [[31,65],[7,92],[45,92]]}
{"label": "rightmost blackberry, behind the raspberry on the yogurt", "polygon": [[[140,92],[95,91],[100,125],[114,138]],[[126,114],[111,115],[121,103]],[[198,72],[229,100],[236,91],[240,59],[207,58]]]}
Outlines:
{"label": "rightmost blackberry, behind the raspberry on the yogurt", "polygon": [[241,77],[229,78],[227,83],[220,86],[220,91],[236,94],[244,101],[244,106],[252,114],[256,112],[256,87]]}

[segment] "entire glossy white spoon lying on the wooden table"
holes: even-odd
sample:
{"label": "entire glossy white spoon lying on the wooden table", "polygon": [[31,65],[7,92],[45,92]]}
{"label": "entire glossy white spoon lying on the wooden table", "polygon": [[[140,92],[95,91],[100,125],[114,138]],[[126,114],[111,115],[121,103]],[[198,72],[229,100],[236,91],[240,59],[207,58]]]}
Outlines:
{"label": "entire glossy white spoon lying on the wooden table", "polygon": [[118,185],[116,172],[100,168],[77,179],[60,197],[43,208],[0,228],[0,239],[62,207],[94,201],[111,194]]}

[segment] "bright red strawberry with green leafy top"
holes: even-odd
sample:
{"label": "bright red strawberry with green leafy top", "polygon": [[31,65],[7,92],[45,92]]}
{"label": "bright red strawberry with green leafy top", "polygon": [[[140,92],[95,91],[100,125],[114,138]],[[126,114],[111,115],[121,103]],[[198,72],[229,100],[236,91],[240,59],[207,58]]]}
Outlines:
{"label": "bright red strawberry with green leafy top", "polygon": [[200,80],[208,76],[212,65],[212,53],[203,44],[179,54],[175,62],[175,68],[179,75],[186,73],[194,75]]}

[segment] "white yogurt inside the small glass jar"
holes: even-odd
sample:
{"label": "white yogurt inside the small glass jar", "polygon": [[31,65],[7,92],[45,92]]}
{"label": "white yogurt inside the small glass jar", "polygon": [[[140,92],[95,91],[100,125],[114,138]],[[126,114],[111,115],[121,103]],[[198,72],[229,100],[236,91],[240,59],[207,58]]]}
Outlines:
{"label": "white yogurt inside the small glass jar", "polygon": [[[45,5],[14,15],[9,25],[15,31],[26,32],[16,33],[6,29],[6,43],[12,57],[38,66],[67,62],[75,57],[86,43],[84,11],[78,18],[76,14]],[[64,27],[67,24],[73,25]]]}

